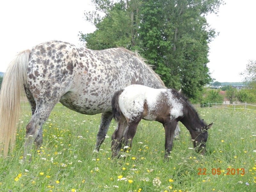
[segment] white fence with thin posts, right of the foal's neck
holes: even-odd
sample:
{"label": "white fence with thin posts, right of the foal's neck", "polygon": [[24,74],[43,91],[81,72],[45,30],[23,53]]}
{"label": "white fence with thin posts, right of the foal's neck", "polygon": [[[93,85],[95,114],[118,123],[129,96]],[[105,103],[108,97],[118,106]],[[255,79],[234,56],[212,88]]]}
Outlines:
{"label": "white fence with thin posts, right of the foal's neck", "polygon": [[256,105],[248,104],[248,103],[239,103],[239,104],[228,104],[228,103],[208,103],[208,104],[197,104],[193,105],[196,107],[202,108],[228,108],[228,109],[248,109],[248,110],[256,110]]}

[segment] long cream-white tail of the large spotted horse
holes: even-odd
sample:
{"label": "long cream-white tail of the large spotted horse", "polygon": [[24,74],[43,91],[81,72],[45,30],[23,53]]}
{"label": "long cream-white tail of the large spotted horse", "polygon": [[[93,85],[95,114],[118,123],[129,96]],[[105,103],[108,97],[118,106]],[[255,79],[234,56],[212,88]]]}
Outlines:
{"label": "long cream-white tail of the large spotted horse", "polygon": [[0,154],[8,155],[15,146],[17,122],[20,115],[20,96],[28,80],[28,58],[30,50],[17,54],[4,74],[0,92]]}

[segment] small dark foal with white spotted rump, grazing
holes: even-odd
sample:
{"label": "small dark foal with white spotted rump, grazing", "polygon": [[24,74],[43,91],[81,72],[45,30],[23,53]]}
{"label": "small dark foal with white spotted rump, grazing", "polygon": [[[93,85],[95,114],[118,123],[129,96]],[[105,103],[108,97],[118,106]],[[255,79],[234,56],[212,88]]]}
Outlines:
{"label": "small dark foal with white spotted rump, grazing", "polygon": [[119,157],[123,146],[132,147],[132,139],[141,119],[158,121],[165,131],[165,155],[172,151],[173,134],[178,121],[185,125],[193,140],[194,148],[202,155],[208,138],[207,130],[212,124],[205,124],[180,92],[172,89],[153,89],[143,85],[130,85],[112,98],[113,117],[118,128],[112,135],[112,157]]}

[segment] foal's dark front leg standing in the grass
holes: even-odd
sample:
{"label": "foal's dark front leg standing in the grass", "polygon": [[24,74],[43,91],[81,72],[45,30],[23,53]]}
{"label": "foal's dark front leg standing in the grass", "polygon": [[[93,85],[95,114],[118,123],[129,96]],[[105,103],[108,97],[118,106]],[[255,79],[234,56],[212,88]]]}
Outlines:
{"label": "foal's dark front leg standing in the grass", "polygon": [[170,153],[172,151],[172,144],[173,144],[173,135],[175,128],[177,126],[176,121],[167,121],[164,125],[164,131],[165,131],[165,154],[164,154],[164,159],[167,161],[169,160],[168,157],[170,156]]}

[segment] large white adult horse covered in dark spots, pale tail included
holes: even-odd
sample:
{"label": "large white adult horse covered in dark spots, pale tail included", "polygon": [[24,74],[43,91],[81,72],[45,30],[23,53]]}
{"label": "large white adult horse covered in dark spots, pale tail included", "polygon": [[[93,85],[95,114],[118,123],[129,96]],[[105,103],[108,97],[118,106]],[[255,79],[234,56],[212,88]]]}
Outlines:
{"label": "large white adult horse covered in dark spots, pale tail included", "polygon": [[[61,41],[38,44],[17,54],[4,75],[0,94],[0,147],[15,146],[20,96],[25,91],[32,117],[26,126],[24,154],[42,143],[42,126],[60,102],[81,114],[102,113],[95,148],[99,150],[112,120],[111,98],[131,84],[165,88],[160,77],[124,48],[102,51]],[[1,151],[0,151],[1,153]]]}

